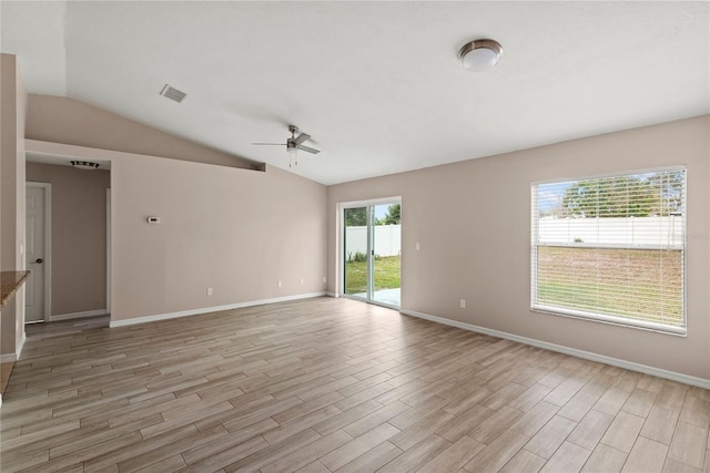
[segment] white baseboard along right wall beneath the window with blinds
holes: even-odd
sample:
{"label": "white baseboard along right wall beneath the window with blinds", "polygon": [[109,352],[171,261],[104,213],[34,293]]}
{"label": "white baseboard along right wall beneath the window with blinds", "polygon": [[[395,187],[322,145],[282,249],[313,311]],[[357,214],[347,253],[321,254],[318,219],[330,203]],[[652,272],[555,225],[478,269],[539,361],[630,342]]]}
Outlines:
{"label": "white baseboard along right wall beneath the window with blinds", "polygon": [[611,364],[612,367],[619,367],[619,368],[623,368],[631,371],[638,371],[641,373],[682,382],[684,384],[710,389],[710,380],[704,378],[691,377],[691,376],[679,373],[676,371],[668,371],[660,368],[649,367],[647,364],[635,363],[632,361],[626,361],[619,358],[607,357],[605,354],[594,353],[591,351],[578,350],[576,348],[564,347],[561,345],[556,345],[556,343],[549,343],[547,341],[540,341],[534,338],[520,337],[517,335],[513,335],[513,333],[508,333],[499,330],[487,329],[485,327],[479,327],[470,323],[459,322],[456,320],[445,319],[444,317],[432,316],[429,313],[417,312],[414,310],[400,310],[400,313],[404,313],[405,316],[412,316],[420,319],[430,320],[437,323],[444,323],[444,325],[456,327],[464,330],[489,335],[491,337],[498,337],[498,338],[504,338],[506,340],[517,341],[518,343],[544,348],[550,351],[557,351],[559,353],[582,358],[585,360],[591,360],[600,363]]}

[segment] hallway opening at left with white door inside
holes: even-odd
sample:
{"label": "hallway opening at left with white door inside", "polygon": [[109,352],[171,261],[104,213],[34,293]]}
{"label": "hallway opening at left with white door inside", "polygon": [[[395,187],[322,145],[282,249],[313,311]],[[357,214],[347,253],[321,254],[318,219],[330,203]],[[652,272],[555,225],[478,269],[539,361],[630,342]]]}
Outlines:
{"label": "hallway opening at left with white door inside", "polygon": [[26,160],[26,323],[110,310],[110,163],[82,169],[68,160]]}

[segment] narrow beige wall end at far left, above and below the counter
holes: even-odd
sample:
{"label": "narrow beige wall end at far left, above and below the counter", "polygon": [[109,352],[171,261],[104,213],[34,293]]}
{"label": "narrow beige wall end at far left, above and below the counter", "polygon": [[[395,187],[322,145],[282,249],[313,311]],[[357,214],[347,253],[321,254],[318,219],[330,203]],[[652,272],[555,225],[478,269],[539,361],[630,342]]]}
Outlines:
{"label": "narrow beige wall end at far left, above and below the counter", "polygon": [[[27,93],[16,56],[0,54],[0,269],[24,269],[24,122]],[[24,288],[3,308],[0,354],[16,352],[24,337]]]}

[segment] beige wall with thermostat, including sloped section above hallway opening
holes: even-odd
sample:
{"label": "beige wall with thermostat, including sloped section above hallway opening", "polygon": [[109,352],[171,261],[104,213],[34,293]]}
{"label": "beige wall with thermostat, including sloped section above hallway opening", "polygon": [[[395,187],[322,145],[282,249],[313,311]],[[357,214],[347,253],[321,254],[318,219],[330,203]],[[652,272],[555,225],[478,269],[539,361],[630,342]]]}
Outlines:
{"label": "beige wall with thermostat, including sloped section above hallway opening", "polygon": [[111,162],[112,321],[325,290],[325,186],[70,99],[30,95],[27,137]]}

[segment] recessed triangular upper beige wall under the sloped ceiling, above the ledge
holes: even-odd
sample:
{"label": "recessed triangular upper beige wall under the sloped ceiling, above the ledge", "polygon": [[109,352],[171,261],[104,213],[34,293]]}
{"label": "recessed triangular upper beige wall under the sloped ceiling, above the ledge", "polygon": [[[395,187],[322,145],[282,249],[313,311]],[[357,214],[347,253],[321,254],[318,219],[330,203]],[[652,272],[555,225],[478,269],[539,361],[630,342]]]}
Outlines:
{"label": "recessed triangular upper beige wall under the sloped ceiling, above the ledge", "polygon": [[205,147],[63,96],[29,96],[26,137],[230,167],[263,168],[263,165],[250,160]]}

